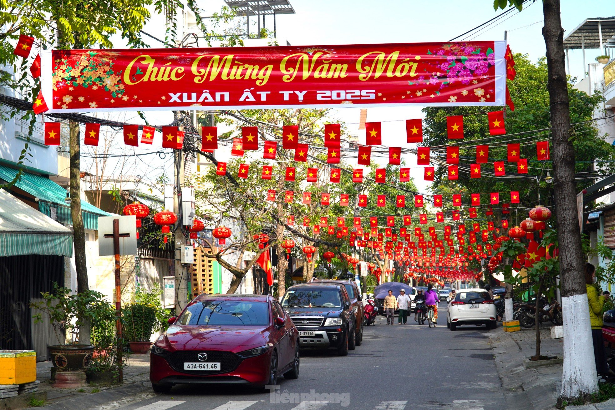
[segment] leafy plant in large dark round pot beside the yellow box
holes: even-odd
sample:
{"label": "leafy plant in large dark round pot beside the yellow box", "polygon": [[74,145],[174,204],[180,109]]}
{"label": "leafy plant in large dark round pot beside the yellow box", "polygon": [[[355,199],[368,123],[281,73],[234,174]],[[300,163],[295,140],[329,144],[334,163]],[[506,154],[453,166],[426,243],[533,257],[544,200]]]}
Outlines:
{"label": "leafy plant in large dark round pot beside the yellow box", "polygon": [[49,346],[54,368],[54,387],[72,389],[85,385],[85,371],[92,362],[94,346],[79,343],[84,323],[93,322],[109,310],[103,294],[94,290],[73,294],[54,284],[53,292],[41,292],[41,301],[30,303],[36,309],[34,322],[49,320],[58,344]]}

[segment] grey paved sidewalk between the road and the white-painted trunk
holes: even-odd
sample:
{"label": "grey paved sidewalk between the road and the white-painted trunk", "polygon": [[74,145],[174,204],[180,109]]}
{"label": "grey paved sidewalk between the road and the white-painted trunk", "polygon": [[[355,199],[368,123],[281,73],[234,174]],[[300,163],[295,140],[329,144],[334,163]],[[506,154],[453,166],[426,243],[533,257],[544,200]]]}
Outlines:
{"label": "grey paved sidewalk between the road and the white-painted trunk", "polygon": [[[561,390],[561,364],[526,369],[523,360],[534,355],[536,330],[506,333],[501,327],[490,331],[496,368],[504,388],[507,408],[514,410],[550,410]],[[563,339],[552,339],[550,326],[541,328],[541,355],[563,354]]]}

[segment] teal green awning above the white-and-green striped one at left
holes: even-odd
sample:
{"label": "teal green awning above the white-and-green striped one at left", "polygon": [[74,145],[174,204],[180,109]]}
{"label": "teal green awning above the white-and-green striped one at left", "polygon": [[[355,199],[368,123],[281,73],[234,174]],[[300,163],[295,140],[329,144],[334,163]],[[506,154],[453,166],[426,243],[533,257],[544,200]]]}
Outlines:
{"label": "teal green awning above the white-and-green striped one at left", "polygon": [[[12,181],[17,173],[17,169],[0,165],[0,179],[7,182]],[[38,198],[39,211],[43,214],[50,217],[52,215],[52,208],[55,208],[55,219],[58,222],[73,225],[71,207],[66,203],[66,190],[54,181],[24,171],[20,179],[15,183],[15,187]],[[98,217],[112,215],[86,202],[81,203],[81,209],[85,229],[90,230],[98,230]]]}

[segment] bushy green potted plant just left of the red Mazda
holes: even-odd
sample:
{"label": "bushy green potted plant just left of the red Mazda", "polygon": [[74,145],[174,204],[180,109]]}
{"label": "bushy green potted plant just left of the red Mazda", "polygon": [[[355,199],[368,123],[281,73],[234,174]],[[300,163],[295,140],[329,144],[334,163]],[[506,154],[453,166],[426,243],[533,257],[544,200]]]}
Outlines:
{"label": "bushy green potted plant just left of the red Mazda", "polygon": [[129,341],[130,351],[146,354],[151,346],[149,338],[160,328],[156,307],[149,303],[135,302],[126,307],[122,336]]}

